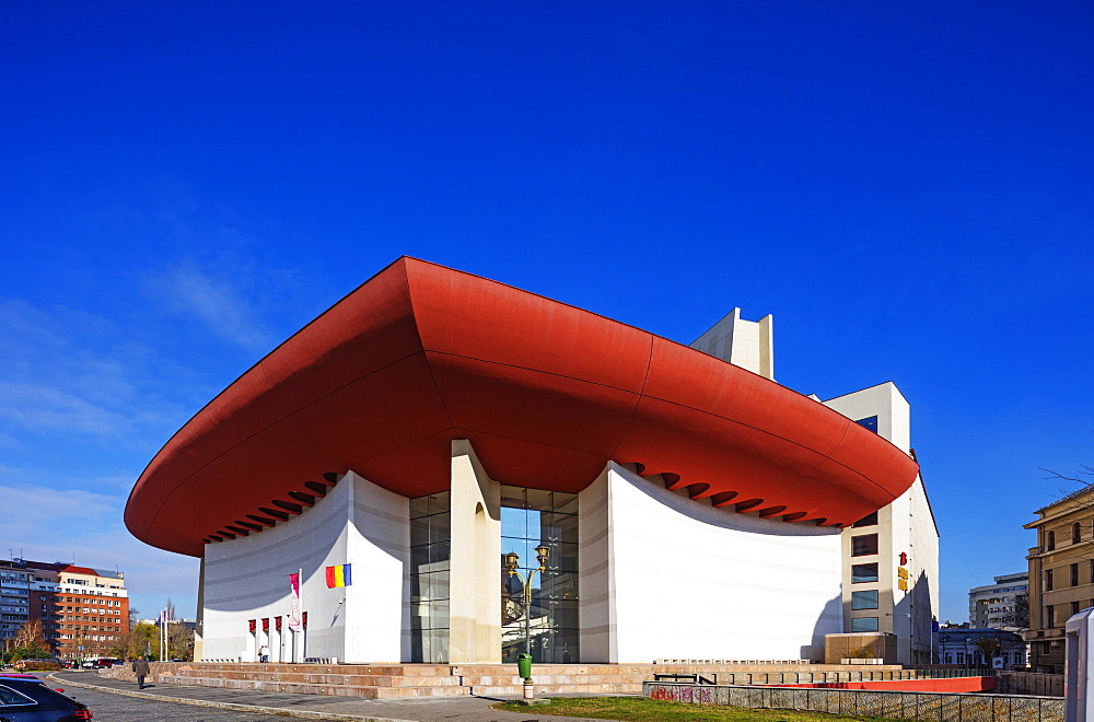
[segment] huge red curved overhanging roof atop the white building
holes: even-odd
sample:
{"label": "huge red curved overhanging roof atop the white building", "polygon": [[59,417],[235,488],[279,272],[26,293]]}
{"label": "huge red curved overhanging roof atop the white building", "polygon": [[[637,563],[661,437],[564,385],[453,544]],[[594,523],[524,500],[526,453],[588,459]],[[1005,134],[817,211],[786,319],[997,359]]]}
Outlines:
{"label": "huge red curved overhanging roof atop the white building", "polygon": [[[850,524],[918,467],[801,394],[653,334],[400,258],[259,361],[160,450],[126,525],[203,542],[325,473],[407,497],[446,489],[469,439],[504,484],[579,491],[609,459],[696,498]],[[314,485],[313,485],[314,486]],[[252,522],[254,523],[254,522]]]}

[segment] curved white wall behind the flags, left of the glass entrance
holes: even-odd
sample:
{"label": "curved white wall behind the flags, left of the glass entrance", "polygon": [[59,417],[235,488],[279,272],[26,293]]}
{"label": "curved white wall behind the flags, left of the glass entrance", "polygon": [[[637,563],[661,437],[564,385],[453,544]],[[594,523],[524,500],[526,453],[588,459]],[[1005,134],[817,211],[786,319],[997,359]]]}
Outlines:
{"label": "curved white wall behind the flags, left of the glass entrance", "polygon": [[[254,661],[267,642],[270,661],[293,659],[291,634],[272,619],[289,614],[289,574],[303,570],[309,626],[296,661],[398,662],[408,607],[409,506],[405,497],[350,473],[313,509],[259,534],[206,547],[202,657]],[[325,568],[351,563],[353,584],[327,589]],[[258,639],[247,621],[258,620]]]}

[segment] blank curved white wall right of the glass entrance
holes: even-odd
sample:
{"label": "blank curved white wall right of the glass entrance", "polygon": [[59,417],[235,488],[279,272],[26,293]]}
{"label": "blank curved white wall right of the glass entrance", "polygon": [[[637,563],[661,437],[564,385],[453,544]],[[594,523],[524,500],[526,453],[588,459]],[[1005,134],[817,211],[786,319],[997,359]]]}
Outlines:
{"label": "blank curved white wall right of the glass entrance", "polygon": [[609,464],[580,496],[582,662],[816,659],[839,529],[714,509]]}

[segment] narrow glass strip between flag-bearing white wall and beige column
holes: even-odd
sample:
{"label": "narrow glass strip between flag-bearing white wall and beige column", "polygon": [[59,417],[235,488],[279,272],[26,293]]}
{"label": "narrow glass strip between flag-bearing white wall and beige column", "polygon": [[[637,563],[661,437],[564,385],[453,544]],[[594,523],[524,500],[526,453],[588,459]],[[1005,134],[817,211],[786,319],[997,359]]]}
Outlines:
{"label": "narrow glass strip between flag-bearing white wall and beige column", "polygon": [[449,661],[449,492],[410,500],[410,661]]}

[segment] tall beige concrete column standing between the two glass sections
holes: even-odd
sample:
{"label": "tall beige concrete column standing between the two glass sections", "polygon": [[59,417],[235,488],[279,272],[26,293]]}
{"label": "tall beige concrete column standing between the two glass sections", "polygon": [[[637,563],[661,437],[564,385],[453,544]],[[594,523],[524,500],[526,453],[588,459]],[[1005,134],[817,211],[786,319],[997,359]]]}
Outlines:
{"label": "tall beige concrete column standing between the two glass sections", "polygon": [[501,485],[452,442],[449,662],[501,662]]}

